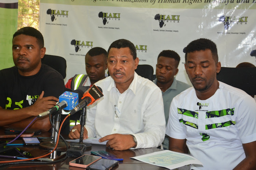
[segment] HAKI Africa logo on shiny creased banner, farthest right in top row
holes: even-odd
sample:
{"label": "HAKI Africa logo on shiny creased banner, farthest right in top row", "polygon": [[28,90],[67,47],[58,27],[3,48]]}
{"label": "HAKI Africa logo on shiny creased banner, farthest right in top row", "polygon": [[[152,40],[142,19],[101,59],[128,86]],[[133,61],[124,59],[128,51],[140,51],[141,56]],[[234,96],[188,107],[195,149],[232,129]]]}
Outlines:
{"label": "HAKI Africa logo on shiny creased banner, farthest right in top row", "polygon": [[219,17],[219,21],[224,23],[224,29],[228,30],[234,24],[247,24],[248,17],[231,17],[222,15]]}

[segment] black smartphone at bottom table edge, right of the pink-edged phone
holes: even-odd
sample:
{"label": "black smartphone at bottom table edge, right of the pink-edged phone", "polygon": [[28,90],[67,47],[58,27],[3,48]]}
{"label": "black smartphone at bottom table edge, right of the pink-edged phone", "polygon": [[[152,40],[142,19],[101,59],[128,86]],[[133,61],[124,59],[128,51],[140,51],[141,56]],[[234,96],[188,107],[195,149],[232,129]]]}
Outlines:
{"label": "black smartphone at bottom table edge, right of the pink-edged phone", "polygon": [[86,169],[91,170],[110,170],[113,167],[117,166],[119,163],[118,160],[110,160],[110,159],[100,159],[97,162],[89,165]]}

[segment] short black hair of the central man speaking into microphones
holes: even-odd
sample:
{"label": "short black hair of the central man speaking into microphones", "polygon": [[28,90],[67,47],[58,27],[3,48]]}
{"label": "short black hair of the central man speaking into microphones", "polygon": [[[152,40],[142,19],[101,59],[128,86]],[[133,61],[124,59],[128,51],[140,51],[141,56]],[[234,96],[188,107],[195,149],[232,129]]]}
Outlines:
{"label": "short black hair of the central man speaking into microphones", "polygon": [[133,60],[135,60],[137,58],[137,53],[136,53],[136,48],[134,46],[134,44],[127,40],[127,39],[118,39],[116,41],[114,41],[110,46],[109,46],[109,50],[108,50],[108,55],[109,55],[109,51],[111,48],[126,48],[128,47],[130,49],[130,53],[133,57]]}

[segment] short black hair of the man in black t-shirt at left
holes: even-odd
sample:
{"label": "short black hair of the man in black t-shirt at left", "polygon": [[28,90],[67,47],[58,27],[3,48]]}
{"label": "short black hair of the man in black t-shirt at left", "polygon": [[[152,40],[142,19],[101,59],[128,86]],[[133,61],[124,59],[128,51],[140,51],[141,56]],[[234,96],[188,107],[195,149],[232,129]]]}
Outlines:
{"label": "short black hair of the man in black t-shirt at left", "polygon": [[29,35],[29,36],[37,38],[37,43],[38,43],[39,47],[40,48],[44,47],[44,37],[40,33],[40,31],[38,31],[37,29],[34,29],[33,27],[23,27],[13,34],[13,38],[20,34]]}

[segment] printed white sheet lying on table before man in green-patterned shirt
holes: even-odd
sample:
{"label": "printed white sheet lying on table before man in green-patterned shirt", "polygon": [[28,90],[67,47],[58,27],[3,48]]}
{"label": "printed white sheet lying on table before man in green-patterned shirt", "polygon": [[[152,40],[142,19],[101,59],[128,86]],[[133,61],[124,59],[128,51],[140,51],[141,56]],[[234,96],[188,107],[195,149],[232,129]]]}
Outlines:
{"label": "printed white sheet lying on table before man in green-patterned shirt", "polygon": [[175,169],[189,164],[203,165],[198,159],[190,155],[169,150],[154,152],[132,158],[168,169]]}

